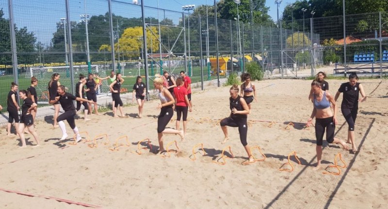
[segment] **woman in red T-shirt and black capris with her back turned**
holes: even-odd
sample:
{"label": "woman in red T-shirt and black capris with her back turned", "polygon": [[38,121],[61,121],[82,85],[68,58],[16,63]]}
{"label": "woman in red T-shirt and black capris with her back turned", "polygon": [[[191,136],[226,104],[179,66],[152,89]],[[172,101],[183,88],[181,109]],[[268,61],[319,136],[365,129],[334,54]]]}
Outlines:
{"label": "woman in red T-shirt and black capris with her back turned", "polygon": [[187,110],[192,111],[189,98],[187,97],[187,89],[183,87],[183,79],[177,79],[178,87],[174,88],[174,94],[176,97],[175,109],[177,110],[177,130],[179,130],[180,117],[183,114],[183,133],[186,135],[187,127]]}

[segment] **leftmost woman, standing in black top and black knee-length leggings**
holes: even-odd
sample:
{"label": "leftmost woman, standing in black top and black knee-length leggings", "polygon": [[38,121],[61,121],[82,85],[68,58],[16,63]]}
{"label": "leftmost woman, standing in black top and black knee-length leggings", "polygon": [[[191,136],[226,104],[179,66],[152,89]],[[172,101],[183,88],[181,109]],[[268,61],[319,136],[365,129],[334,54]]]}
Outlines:
{"label": "leftmost woman, standing in black top and black knee-length leggings", "polygon": [[16,91],[18,90],[18,86],[16,83],[11,83],[11,90],[8,93],[7,98],[7,111],[8,111],[8,124],[7,124],[7,136],[11,135],[11,125],[15,120],[15,129],[16,134],[19,129],[19,114],[17,113],[20,109],[19,104],[17,102]]}

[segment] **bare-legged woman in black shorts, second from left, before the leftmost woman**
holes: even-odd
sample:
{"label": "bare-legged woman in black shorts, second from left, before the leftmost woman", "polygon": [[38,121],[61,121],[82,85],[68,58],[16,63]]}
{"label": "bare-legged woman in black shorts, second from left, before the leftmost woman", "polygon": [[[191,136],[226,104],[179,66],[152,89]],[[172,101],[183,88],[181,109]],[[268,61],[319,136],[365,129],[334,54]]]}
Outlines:
{"label": "bare-legged woman in black shorts, second from left, before the leftmost woman", "polygon": [[[37,107],[37,104],[32,101],[32,97],[29,91],[26,90],[20,90],[19,91],[20,99],[23,100],[22,110],[21,110],[21,119],[19,128],[17,129],[17,134],[20,136],[20,141],[22,144],[22,148],[27,147],[26,145],[26,138],[24,137],[24,128],[27,127],[30,134],[32,134],[33,138],[36,141],[36,146],[39,146],[39,138],[38,134],[36,134],[34,128],[33,128],[33,116],[32,111]],[[28,119],[28,115],[31,115],[32,121],[29,121],[31,119]]]}

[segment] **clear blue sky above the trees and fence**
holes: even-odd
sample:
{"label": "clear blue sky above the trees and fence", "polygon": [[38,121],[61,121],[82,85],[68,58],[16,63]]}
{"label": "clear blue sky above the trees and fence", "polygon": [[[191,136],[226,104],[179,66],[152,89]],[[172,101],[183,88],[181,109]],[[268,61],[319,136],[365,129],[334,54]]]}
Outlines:
{"label": "clear blue sky above the trees and fence", "polygon": [[[141,10],[139,6],[130,5],[132,0],[119,0],[127,4],[113,1],[113,13],[125,17],[140,17]],[[138,0],[140,2],[140,0]],[[157,7],[158,0],[144,0],[146,6]],[[295,0],[283,0],[279,7],[279,16],[288,3]],[[181,12],[183,5],[195,4],[213,6],[214,0],[159,0],[159,8]],[[56,31],[56,24],[60,19],[66,17],[65,0],[13,0],[15,23],[18,28],[27,27],[33,31],[38,41],[49,44],[53,32]],[[84,0],[69,0],[70,20],[80,21],[80,15],[84,14]],[[270,8],[269,15],[276,21],[275,0],[267,0],[266,6]],[[8,0],[0,0],[0,8],[3,8],[5,18],[8,18]],[[108,0],[86,0],[86,10],[89,15],[103,15],[108,12]],[[146,16],[157,18],[157,11],[148,9]],[[161,14],[161,18],[162,18]],[[173,19],[178,23],[181,17],[178,13],[166,13],[166,17]]]}

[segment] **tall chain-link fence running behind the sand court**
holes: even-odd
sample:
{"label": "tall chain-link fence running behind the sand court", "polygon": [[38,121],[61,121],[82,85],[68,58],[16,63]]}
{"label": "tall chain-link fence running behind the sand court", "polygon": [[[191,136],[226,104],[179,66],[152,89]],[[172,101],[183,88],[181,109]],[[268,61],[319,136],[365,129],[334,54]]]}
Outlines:
{"label": "tall chain-link fence running behind the sand court", "polygon": [[[163,71],[185,71],[193,88],[205,89],[231,73],[242,73],[250,61],[258,62],[265,76],[275,77],[309,76],[321,68],[334,74],[380,73],[388,68],[387,13],[346,15],[345,27],[343,16],[268,27],[154,7],[144,7],[144,14],[143,18],[140,5],[122,0],[31,0],[28,5],[0,0],[3,113],[11,82],[27,89],[34,76],[39,80],[38,104],[47,106],[38,114],[52,114],[47,86],[53,73],[59,73],[61,84],[74,93],[80,74],[106,77],[120,72],[125,76],[122,97],[129,101],[136,76],[149,78],[144,81],[152,92],[150,79]],[[99,105],[112,101],[108,92],[104,80]],[[6,121],[5,113],[0,124]]]}

